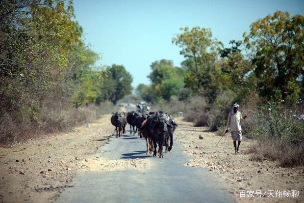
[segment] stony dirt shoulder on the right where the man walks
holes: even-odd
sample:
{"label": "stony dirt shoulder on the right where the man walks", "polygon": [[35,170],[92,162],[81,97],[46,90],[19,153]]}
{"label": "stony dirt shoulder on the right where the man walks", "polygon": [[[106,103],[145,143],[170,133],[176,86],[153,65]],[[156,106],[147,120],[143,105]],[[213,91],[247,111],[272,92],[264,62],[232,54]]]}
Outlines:
{"label": "stony dirt shoulder on the right where the man walks", "polygon": [[[210,132],[206,127],[193,127],[193,123],[176,119],[178,128],[174,134],[177,141],[184,147],[184,153],[193,159],[184,165],[202,167],[223,181],[237,202],[304,202],[304,167],[280,168],[277,162],[252,161],[249,146],[253,140],[243,139],[240,154],[234,154],[234,147],[230,134],[224,137],[217,147],[220,136]],[[201,139],[200,139],[201,136]],[[246,198],[240,198],[240,191],[246,191]],[[270,190],[299,191],[298,198],[272,198]],[[253,197],[248,197],[254,191]],[[261,191],[259,198],[256,194]],[[241,192],[243,193],[243,192]],[[242,194],[243,195],[243,194]]]}

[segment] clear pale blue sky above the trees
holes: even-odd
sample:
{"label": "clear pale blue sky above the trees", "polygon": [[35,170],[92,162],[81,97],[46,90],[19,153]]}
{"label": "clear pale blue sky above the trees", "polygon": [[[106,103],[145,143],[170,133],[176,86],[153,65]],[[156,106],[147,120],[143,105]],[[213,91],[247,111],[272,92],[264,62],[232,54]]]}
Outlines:
{"label": "clear pale blue sky above the trees", "polygon": [[76,20],[102,65],[123,64],[132,86],[149,84],[150,64],[184,59],[171,43],[181,27],[210,28],[228,46],[251,23],[277,10],[304,15],[304,0],[74,0]]}

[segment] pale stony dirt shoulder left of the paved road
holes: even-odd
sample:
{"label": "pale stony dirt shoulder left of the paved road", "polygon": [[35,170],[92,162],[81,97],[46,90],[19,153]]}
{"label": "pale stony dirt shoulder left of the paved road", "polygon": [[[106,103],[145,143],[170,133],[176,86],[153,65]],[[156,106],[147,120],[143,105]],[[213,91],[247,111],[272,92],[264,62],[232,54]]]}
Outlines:
{"label": "pale stony dirt shoulder left of the paved road", "polygon": [[73,187],[77,171],[91,169],[83,163],[94,165],[99,147],[114,131],[109,121],[104,115],[89,127],[0,148],[0,202],[53,202]]}

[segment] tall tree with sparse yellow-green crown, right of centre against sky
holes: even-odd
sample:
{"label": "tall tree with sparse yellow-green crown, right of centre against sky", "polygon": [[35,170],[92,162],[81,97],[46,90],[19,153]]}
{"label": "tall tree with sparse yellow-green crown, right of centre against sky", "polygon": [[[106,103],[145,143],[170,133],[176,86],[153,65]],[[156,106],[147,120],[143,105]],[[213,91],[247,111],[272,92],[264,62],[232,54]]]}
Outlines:
{"label": "tall tree with sparse yellow-green crown, right of centre against sky", "polygon": [[218,50],[222,45],[216,39],[212,39],[211,29],[188,27],[180,29],[172,42],[181,48],[180,54],[186,60],[182,63],[188,68],[185,74],[185,87],[191,88],[196,93],[207,96],[209,102],[213,102],[219,93],[216,84],[216,62]]}

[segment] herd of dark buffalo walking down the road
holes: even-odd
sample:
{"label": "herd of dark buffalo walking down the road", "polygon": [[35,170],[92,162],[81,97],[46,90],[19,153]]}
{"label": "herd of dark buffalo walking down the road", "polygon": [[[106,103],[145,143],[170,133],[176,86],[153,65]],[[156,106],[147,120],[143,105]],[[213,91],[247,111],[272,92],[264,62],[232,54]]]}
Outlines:
{"label": "herd of dark buffalo walking down the road", "polygon": [[[169,152],[173,146],[173,133],[177,128],[174,117],[163,112],[131,111],[112,113],[111,123],[115,126],[116,137],[126,134],[126,125],[130,125],[130,134],[138,131],[140,138],[146,139],[147,151],[160,158],[163,156],[163,146],[166,146],[165,153]],[[134,130],[135,127],[135,130]]]}

